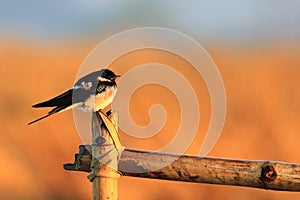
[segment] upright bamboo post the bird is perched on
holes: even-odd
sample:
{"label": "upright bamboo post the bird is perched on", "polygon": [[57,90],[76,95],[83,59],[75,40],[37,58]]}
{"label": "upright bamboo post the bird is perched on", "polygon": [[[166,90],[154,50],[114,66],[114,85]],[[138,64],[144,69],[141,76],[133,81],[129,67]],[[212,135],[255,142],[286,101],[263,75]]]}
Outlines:
{"label": "upright bamboo post the bird is perched on", "polygon": [[[117,129],[117,114],[109,116]],[[118,154],[113,140],[98,113],[92,118],[92,181],[93,200],[118,199]]]}

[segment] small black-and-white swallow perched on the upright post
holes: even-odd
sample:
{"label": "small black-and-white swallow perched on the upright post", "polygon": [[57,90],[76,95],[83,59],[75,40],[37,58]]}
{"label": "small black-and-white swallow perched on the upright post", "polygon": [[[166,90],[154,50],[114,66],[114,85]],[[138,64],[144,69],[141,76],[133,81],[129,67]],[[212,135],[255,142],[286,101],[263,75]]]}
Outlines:
{"label": "small black-and-white swallow perched on the upright post", "polygon": [[118,77],[120,75],[116,75],[109,69],[101,69],[80,78],[70,90],[53,99],[33,105],[34,108],[54,108],[47,115],[28,123],[28,125],[72,108],[78,108],[86,112],[106,108],[116,94],[116,78]]}

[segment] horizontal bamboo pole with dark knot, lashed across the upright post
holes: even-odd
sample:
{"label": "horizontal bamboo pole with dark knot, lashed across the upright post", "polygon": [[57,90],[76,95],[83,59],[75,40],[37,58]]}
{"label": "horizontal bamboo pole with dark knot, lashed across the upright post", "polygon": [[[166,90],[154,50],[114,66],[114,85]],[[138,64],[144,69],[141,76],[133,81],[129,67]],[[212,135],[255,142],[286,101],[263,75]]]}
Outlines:
{"label": "horizontal bamboo pole with dark knot, lashed across the upright post", "polygon": [[[90,162],[89,148],[88,145],[80,146],[75,163],[66,164],[65,169],[87,171],[86,166]],[[162,164],[166,167],[149,171]],[[300,192],[300,165],[284,162],[233,160],[125,149],[118,169],[124,176]]]}

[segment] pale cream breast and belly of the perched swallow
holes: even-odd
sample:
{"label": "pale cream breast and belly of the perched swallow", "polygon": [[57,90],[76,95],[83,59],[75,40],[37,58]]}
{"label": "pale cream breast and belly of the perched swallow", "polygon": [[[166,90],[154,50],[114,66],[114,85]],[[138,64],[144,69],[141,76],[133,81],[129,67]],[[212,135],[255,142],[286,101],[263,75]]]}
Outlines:
{"label": "pale cream breast and belly of the perched swallow", "polygon": [[78,108],[85,112],[98,111],[106,108],[113,100],[117,88],[107,87],[104,91],[90,95]]}

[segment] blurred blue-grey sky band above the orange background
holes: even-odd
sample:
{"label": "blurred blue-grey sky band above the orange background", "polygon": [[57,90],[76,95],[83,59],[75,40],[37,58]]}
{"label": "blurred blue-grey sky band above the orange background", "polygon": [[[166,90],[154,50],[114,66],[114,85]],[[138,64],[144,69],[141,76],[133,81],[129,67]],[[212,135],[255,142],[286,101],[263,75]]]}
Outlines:
{"label": "blurred blue-grey sky band above the orange background", "polygon": [[172,28],[201,40],[298,41],[300,1],[0,1],[2,39],[85,39],[143,26]]}

